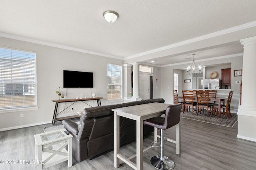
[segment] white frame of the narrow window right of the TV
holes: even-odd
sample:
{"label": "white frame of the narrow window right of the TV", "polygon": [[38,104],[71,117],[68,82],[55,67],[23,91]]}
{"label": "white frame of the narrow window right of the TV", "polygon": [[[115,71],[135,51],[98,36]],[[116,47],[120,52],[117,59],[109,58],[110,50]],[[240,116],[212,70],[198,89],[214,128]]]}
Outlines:
{"label": "white frame of the narrow window right of the TV", "polygon": [[[108,63],[107,64],[107,81],[108,81],[108,65],[111,65],[111,66],[118,66],[120,67],[120,84],[107,84],[107,102],[114,102],[114,101],[122,101],[123,100],[123,85],[122,85],[122,79],[123,79],[123,66],[122,65],[119,65],[119,64],[111,64],[111,63]],[[108,87],[109,86],[120,86],[120,98],[118,99],[108,99]]]}

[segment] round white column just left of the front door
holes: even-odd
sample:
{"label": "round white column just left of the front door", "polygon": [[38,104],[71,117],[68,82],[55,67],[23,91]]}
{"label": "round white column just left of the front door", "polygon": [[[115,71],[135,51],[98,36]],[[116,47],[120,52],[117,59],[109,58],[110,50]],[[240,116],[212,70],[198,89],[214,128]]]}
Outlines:
{"label": "round white column just left of the front door", "polygon": [[133,65],[133,96],[132,100],[138,101],[142,100],[139,96],[139,64],[138,63],[131,63]]}

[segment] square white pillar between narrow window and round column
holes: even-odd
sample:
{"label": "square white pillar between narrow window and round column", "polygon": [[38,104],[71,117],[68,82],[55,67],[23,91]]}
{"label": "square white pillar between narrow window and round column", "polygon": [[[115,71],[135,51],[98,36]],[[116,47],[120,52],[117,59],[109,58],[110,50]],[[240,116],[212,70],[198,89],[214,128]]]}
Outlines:
{"label": "square white pillar between narrow window and round column", "polygon": [[124,64],[124,100],[130,99],[132,91],[132,64]]}

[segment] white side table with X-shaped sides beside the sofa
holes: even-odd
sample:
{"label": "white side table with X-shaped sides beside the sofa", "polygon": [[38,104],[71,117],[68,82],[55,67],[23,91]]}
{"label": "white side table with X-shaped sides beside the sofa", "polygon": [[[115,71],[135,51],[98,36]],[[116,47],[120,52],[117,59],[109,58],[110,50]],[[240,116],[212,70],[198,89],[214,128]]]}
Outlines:
{"label": "white side table with X-shaped sides beside the sofa", "polygon": [[[48,168],[68,160],[68,167],[72,166],[72,135],[64,133],[66,129],[50,131],[34,135],[35,163],[38,170]],[[68,150],[66,146],[68,145]]]}

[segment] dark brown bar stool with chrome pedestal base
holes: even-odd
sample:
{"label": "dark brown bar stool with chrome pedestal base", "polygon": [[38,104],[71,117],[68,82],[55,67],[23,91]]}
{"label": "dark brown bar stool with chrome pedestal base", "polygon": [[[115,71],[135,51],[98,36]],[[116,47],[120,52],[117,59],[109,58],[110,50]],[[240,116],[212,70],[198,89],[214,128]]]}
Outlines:
{"label": "dark brown bar stool with chrome pedestal base", "polygon": [[[161,141],[153,141],[152,147],[161,147],[161,155],[153,156],[150,160],[151,164],[159,170],[171,170],[174,168],[175,163],[170,158],[164,156],[164,130],[180,122],[180,111],[182,104],[174,104],[167,107],[164,117],[153,117],[143,121],[145,125],[150,125],[161,129]],[[154,146],[154,143],[160,142],[160,146]]]}

